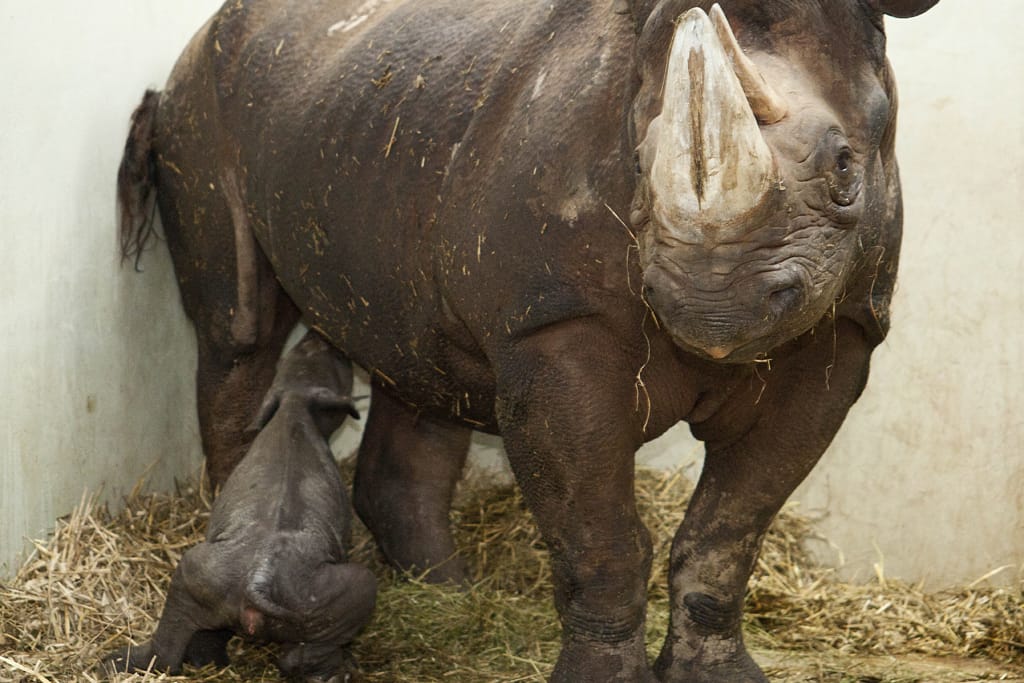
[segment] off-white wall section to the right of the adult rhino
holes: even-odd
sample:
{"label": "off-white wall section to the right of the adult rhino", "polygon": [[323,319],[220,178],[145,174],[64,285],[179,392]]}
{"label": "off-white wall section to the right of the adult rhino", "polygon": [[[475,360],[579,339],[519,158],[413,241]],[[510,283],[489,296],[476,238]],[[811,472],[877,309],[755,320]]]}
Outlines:
{"label": "off-white wall section to the right of the adult rhino", "polygon": [[889,22],[906,220],[893,331],[800,492],[848,573],[1024,579],[1019,0]]}

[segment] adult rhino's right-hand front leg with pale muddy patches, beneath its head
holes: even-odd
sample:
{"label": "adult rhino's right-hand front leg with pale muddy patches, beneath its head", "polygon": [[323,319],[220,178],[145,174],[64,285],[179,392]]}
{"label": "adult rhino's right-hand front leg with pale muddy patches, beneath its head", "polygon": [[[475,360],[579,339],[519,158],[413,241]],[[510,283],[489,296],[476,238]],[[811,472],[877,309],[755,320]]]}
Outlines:
{"label": "adult rhino's right-hand front leg with pale muddy patches, beneath its head", "polygon": [[[671,624],[654,666],[662,681],[768,680],[743,645],[743,597],[768,525],[866,380],[870,345],[854,325],[837,326],[835,341],[817,335],[762,370],[766,384],[755,379],[716,416],[692,425],[707,457],[673,542]],[[749,429],[738,440],[737,427]]]}

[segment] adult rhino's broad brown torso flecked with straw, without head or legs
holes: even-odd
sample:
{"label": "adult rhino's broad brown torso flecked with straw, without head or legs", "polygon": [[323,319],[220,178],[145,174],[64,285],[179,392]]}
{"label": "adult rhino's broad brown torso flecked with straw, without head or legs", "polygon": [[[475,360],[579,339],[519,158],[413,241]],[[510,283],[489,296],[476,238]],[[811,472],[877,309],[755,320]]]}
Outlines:
{"label": "adult rhino's broad brown torso flecked with straw, without head or legs", "polygon": [[193,159],[212,151],[222,171],[190,191],[238,178],[233,203],[309,325],[409,402],[488,423],[489,339],[591,313],[595,282],[628,291],[604,205],[632,196],[608,116],[632,27],[606,4],[225,7],[205,62],[172,78],[207,101],[172,102],[169,128],[219,131],[196,133]]}

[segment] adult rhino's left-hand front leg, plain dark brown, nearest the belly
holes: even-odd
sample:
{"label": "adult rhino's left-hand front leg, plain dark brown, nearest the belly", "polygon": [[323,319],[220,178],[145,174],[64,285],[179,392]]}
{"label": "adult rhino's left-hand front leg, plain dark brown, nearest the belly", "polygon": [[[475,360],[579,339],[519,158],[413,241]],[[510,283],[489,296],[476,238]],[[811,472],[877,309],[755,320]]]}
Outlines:
{"label": "adult rhino's left-hand front leg, plain dark brown, nearest the belly", "polygon": [[[651,544],[634,499],[638,362],[587,323],[516,344],[498,369],[509,462],[552,560],[562,651],[552,681],[652,681],[644,647]],[[610,341],[610,340],[609,340]]]}

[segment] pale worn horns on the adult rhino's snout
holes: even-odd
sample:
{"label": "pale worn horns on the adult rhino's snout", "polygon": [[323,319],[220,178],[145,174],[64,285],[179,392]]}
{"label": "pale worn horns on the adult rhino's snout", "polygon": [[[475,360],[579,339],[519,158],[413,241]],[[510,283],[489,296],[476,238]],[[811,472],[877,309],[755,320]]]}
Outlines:
{"label": "pale worn horns on the adult rhino's snout", "polygon": [[676,26],[662,113],[641,146],[652,218],[705,239],[740,229],[737,218],[763,201],[775,167],[758,119],[773,123],[785,115],[722,10],[716,5],[712,14],[690,9]]}

